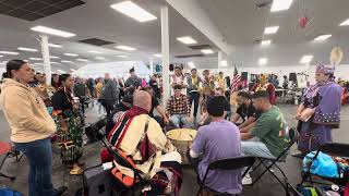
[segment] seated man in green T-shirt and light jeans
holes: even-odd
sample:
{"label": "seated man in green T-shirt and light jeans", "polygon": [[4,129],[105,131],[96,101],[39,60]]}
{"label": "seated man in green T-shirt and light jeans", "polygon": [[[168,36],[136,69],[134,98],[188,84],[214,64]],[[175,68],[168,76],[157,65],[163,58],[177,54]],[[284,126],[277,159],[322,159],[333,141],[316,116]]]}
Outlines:
{"label": "seated man in green T-shirt and light jeans", "polygon": [[[276,159],[288,146],[284,139],[284,130],[287,126],[285,118],[276,106],[270,105],[267,91],[256,91],[252,101],[262,115],[253,128],[241,133],[241,151],[249,156]],[[252,184],[249,174],[244,176],[242,184]]]}

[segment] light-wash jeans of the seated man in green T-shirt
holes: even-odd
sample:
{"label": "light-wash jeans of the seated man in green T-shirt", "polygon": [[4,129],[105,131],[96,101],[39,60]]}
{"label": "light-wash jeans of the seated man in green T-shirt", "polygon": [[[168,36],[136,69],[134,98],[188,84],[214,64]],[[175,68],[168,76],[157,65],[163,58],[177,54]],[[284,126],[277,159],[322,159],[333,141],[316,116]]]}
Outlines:
{"label": "light-wash jeans of the seated man in green T-shirt", "polygon": [[276,157],[269,151],[269,149],[262,142],[244,140],[241,142],[241,152],[246,156],[272,158]]}

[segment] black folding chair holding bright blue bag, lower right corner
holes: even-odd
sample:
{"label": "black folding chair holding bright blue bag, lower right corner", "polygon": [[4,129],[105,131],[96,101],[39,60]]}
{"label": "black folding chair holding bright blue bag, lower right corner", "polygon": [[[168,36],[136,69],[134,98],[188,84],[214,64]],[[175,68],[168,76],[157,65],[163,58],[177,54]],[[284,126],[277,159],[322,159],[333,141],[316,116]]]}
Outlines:
{"label": "black folding chair holding bright blue bag, lower right corner", "polygon": [[[342,158],[349,158],[349,144],[340,144],[340,143],[327,143],[327,144],[324,144],[324,145],[321,145],[315,154],[315,156],[313,157],[313,160],[314,161],[320,151],[324,152],[324,154],[327,154],[329,156],[333,156],[333,157],[342,157]],[[312,164],[312,162],[311,162]],[[302,174],[302,182],[300,183],[300,185],[302,185],[304,182],[310,182],[311,184],[326,184],[326,183],[323,183],[323,182],[315,182],[312,180],[312,175],[315,175],[315,174],[312,174],[310,172],[311,170],[311,167],[308,168],[308,170]],[[338,184],[338,185],[342,185],[345,186],[347,183],[348,183],[348,179],[344,177],[344,179],[335,179],[335,177],[326,177],[326,176],[320,176],[320,175],[315,175],[315,176],[318,176],[323,180],[326,180],[326,181],[329,181],[332,183],[335,183],[335,184]],[[309,179],[309,180],[308,180]]]}

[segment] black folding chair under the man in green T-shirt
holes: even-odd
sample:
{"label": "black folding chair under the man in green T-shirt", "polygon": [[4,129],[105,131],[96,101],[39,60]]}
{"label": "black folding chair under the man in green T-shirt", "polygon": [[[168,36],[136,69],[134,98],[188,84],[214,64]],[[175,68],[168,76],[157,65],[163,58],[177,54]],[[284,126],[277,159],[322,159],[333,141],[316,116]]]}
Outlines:
{"label": "black folding chair under the man in green T-shirt", "polygon": [[[289,130],[290,142],[289,142],[288,146],[281,151],[281,154],[278,157],[276,157],[275,159],[256,157],[260,160],[260,163],[256,167],[254,167],[252,170],[260,168],[262,164],[264,166],[265,170],[252,182],[252,185],[254,185],[266,172],[269,172],[282,185],[286,193],[288,193],[288,189],[289,189],[288,179],[287,179],[285,172],[281,170],[281,168],[277,164],[277,162],[285,162],[286,161],[286,158],[284,158],[284,157],[288,154],[289,149],[294,145],[298,137],[299,137],[299,134],[298,134],[297,128],[292,127]],[[267,166],[266,162],[272,162],[272,163],[269,163]],[[274,166],[282,174],[282,176],[285,179],[285,183],[270,170],[272,167],[274,167]]]}

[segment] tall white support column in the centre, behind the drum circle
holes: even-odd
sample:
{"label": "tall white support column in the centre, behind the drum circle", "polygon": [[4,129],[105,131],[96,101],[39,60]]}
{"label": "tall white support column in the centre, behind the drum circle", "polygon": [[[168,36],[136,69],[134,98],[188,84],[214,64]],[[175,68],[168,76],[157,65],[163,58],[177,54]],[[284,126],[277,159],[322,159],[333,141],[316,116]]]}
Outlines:
{"label": "tall white support column in the centre, behind the drum circle", "polygon": [[161,53],[163,53],[163,105],[166,106],[170,97],[170,52],[169,52],[169,30],[168,30],[168,8],[161,7]]}

